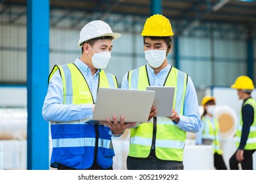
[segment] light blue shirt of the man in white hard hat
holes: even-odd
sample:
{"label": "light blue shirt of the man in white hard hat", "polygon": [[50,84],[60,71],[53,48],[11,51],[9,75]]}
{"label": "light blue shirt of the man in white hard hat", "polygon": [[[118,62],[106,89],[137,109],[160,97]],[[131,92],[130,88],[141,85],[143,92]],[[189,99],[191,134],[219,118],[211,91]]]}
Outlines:
{"label": "light blue shirt of the man in white hard hat", "polygon": [[[100,69],[92,76],[90,68],[79,58],[77,58],[74,63],[86,79],[94,101],[96,101]],[[48,122],[71,122],[75,120],[92,119],[92,104],[64,105],[63,101],[62,77],[60,73],[56,71],[48,84],[48,92],[42,109],[43,118]]]}

